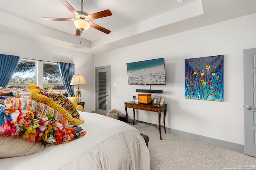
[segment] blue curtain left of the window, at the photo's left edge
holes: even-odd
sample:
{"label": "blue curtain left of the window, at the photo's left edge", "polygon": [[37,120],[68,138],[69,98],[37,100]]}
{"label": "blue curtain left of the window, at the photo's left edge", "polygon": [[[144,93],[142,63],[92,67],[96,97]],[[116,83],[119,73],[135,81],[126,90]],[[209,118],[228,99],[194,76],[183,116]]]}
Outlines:
{"label": "blue curtain left of the window, at the photo's left edge", "polygon": [[19,56],[0,54],[0,87],[6,88],[9,84],[19,61]]}

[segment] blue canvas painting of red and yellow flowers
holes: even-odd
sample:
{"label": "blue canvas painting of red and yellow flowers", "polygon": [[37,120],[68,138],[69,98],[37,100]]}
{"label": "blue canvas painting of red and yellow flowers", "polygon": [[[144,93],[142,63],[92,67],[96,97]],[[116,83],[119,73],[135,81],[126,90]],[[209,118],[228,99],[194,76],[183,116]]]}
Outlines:
{"label": "blue canvas painting of red and yellow flowers", "polygon": [[185,98],[223,102],[223,55],[185,59]]}

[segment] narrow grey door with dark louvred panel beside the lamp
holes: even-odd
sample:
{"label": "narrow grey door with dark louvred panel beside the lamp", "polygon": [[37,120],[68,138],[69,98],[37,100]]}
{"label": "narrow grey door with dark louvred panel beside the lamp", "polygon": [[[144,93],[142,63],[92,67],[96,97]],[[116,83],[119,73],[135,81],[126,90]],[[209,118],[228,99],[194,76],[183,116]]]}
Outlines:
{"label": "narrow grey door with dark louvred panel beside the lamp", "polygon": [[95,68],[95,112],[107,115],[110,109],[110,66]]}

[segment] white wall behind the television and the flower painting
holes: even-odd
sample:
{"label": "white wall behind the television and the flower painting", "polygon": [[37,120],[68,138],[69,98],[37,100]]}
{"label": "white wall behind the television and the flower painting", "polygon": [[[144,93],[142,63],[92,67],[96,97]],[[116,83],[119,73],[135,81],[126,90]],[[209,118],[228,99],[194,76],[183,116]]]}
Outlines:
{"label": "white wall behind the television and the flower painting", "polygon": [[[243,49],[256,47],[255,21],[252,14],[95,55],[95,67],[111,65],[111,108],[125,114],[124,102],[139,94],[135,89],[149,89],[128,85],[126,63],[164,57],[166,85],[151,89],[163,90],[152,97],[168,104],[166,126],[244,145]],[[224,102],[185,99],[184,59],[213,55],[224,55]],[[157,113],[146,114],[157,122]],[[148,121],[144,111],[138,119]]]}

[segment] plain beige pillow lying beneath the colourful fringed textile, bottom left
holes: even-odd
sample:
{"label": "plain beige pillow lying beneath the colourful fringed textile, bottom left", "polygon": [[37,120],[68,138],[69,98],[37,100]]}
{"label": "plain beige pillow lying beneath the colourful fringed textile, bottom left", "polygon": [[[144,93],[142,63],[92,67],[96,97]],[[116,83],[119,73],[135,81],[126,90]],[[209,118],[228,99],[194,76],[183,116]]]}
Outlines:
{"label": "plain beige pillow lying beneath the colourful fringed textile, bottom left", "polygon": [[44,150],[42,142],[28,142],[28,139],[16,136],[0,135],[0,158],[25,156]]}

